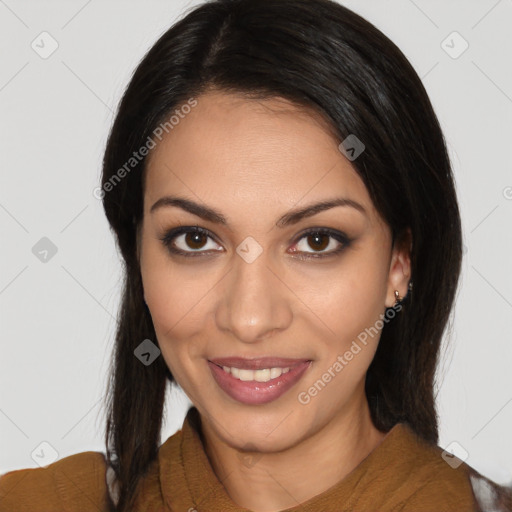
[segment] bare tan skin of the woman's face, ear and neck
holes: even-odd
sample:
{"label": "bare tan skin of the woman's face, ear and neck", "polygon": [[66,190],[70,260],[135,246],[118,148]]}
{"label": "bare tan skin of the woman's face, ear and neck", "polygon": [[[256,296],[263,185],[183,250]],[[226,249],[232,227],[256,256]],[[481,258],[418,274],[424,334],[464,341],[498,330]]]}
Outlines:
{"label": "bare tan skin of the woman's face, ear and neck", "polygon": [[[406,294],[410,240],[391,246],[389,227],[318,114],[279,98],[219,91],[197,100],[148,160],[138,239],[144,296],[162,356],[201,414],[213,471],[236,504],[273,512],[335,485],[385,437],[364,393],[380,331],[359,343],[361,351],[309,403],[297,397],[382,318],[395,303],[394,290]],[[215,208],[228,224],[176,206],[150,212],[165,195]],[[338,206],[296,225],[275,225],[292,209],[337,197],[357,201],[366,214]],[[179,248],[211,255],[170,253],[160,238],[180,225],[198,225],[214,238],[194,245],[178,236]],[[300,260],[291,249],[307,255],[343,245],[329,237],[320,248],[308,243],[300,238],[307,228],[337,230],[352,241],[340,254]],[[252,263],[236,252],[248,236],[263,249]],[[313,362],[277,400],[246,405],[213,379],[207,360],[223,356]],[[248,446],[250,465],[243,457]]]}

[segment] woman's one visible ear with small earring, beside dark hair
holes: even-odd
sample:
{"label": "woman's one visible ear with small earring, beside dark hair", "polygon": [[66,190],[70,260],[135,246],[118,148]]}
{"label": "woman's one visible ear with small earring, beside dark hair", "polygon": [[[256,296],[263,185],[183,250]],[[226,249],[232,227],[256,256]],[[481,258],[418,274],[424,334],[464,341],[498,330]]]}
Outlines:
{"label": "woman's one visible ear with small earring, beside dark hair", "polygon": [[411,229],[408,227],[395,240],[391,254],[386,293],[386,307],[388,308],[393,307],[396,303],[395,290],[398,290],[402,298],[407,295],[411,279],[411,252],[412,234]]}

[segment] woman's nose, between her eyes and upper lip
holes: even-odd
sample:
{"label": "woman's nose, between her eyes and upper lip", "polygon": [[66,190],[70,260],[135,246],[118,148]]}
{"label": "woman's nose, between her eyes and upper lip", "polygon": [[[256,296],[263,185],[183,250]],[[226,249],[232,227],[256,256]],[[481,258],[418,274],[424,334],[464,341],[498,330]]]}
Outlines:
{"label": "woman's nose, between her eyes and upper lip", "polygon": [[235,254],[216,310],[219,330],[243,343],[255,343],[285,330],[292,321],[293,293],[266,252],[248,262]]}

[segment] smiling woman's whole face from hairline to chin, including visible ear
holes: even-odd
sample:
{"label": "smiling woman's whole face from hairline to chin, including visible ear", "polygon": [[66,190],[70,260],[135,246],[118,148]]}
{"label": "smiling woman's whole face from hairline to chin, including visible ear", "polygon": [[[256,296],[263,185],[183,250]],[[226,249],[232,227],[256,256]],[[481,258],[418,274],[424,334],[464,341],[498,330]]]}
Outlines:
{"label": "smiling woman's whole face from hairline to chin, including visible ear", "polygon": [[[197,102],[148,160],[145,299],[162,356],[208,431],[281,450],[367,406],[365,374],[408,262],[316,115],[220,92]],[[339,199],[358,206],[294,215]],[[203,231],[162,241],[181,227]],[[229,357],[244,360],[219,361]]]}

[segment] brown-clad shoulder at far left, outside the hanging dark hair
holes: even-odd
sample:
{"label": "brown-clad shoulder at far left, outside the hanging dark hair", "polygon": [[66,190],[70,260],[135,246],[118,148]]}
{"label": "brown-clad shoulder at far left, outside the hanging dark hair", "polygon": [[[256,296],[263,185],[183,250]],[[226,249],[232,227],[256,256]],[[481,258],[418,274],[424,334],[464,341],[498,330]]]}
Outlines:
{"label": "brown-clad shoulder at far left, outside the hanging dark hair", "polygon": [[0,475],[0,512],[107,510],[106,469],[103,453],[88,451]]}

